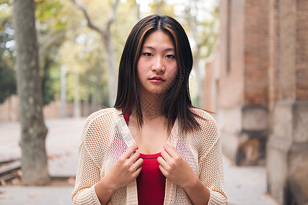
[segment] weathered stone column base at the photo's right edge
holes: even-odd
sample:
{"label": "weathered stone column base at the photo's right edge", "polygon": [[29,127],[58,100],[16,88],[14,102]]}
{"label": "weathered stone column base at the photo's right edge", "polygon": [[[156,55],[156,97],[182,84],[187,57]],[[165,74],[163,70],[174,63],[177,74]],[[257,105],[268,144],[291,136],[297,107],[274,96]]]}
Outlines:
{"label": "weathered stone column base at the photo's right edge", "polygon": [[308,204],[308,100],[278,102],[267,144],[268,192],[281,204]]}

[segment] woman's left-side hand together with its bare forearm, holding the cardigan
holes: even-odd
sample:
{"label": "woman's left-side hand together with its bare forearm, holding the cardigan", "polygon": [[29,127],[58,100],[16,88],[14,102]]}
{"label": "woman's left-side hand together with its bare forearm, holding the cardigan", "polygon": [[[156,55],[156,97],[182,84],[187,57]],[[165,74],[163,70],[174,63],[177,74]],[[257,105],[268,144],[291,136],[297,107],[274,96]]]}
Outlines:
{"label": "woman's left-side hand together with its bare forearm, holding the cardigan", "polygon": [[137,145],[129,146],[110,171],[95,185],[95,192],[101,204],[107,204],[116,189],[127,186],[140,174],[143,159],[139,159],[140,153],[136,150]]}

